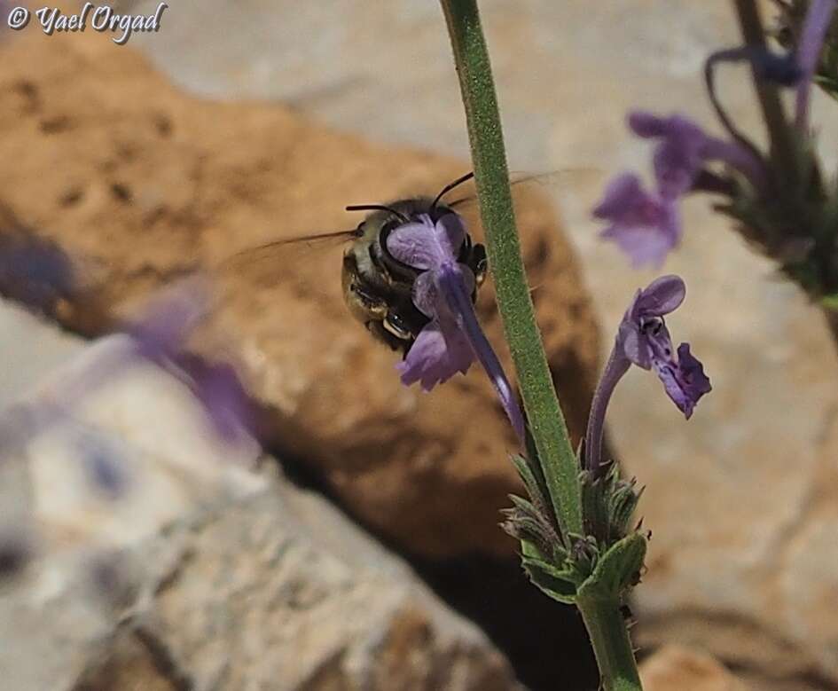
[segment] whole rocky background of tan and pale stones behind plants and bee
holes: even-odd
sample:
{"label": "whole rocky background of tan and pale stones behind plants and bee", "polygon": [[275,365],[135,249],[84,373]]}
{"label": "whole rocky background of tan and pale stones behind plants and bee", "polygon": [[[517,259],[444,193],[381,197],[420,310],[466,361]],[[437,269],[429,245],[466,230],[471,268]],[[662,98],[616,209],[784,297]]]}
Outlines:
{"label": "whole rocky background of tan and pale stones behind plants and bee", "polygon": [[[648,169],[628,108],[712,122],[701,64],[735,42],[729,3],[482,7],[511,167],[567,171],[550,190],[521,188],[519,206],[578,435],[598,357],[653,276],[596,239],[589,209],[607,175]],[[513,439],[481,377],[430,396],[401,388],[392,355],[344,313],[337,247],[219,268],[260,242],[353,227],[346,204],[431,192],[467,168],[439,8],[179,0],[164,17],[128,47],[6,32],[0,199],[82,270],[84,291],[56,314],[81,334],[215,270],[195,348],[240,366],[284,470],[251,469],[252,446],[208,446],[188,397],[151,372],[83,411],[129,450],[130,502],[88,496],[60,436],[22,450],[5,506],[41,556],[0,592],[0,687],[593,687],[575,615],[522,584],[497,530]],[[725,103],[756,128],[729,76]],[[703,200],[687,202],[686,227],[664,267],[690,288],[670,328],[714,391],[685,423],[632,373],[610,419],[654,531],[632,604],[641,653],[658,651],[646,687],[836,688],[834,345]],[[490,290],[480,308],[497,342]],[[5,401],[37,400],[92,357],[2,314]]]}

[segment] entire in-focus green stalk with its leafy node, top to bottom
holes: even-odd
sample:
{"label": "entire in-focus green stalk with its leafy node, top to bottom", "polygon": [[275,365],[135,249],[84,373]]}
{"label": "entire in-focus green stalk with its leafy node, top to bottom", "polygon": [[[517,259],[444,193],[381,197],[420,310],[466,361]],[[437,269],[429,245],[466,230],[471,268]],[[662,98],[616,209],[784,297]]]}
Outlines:
{"label": "entire in-focus green stalk with its leafy node, top to bottom", "polygon": [[[597,546],[583,538],[581,468],[553,388],[529,295],[515,227],[497,98],[476,0],[441,0],[441,4],[466,109],[474,180],[497,308],[518,373],[535,446],[532,451],[536,452],[540,466],[536,470],[543,474],[545,490],[559,522],[557,527],[568,542],[576,541],[574,552],[578,552],[582,562],[586,551],[596,550]],[[536,475],[526,461],[521,461],[520,467],[522,476],[529,478],[530,493],[540,497]],[[524,564],[530,578],[555,599],[576,603],[591,635],[606,691],[639,691],[642,687],[637,663],[620,604],[630,585],[626,575],[633,579],[642,565],[645,538],[638,533],[625,538],[600,558],[590,578],[576,579],[573,564],[564,568],[568,566],[568,553],[562,546],[552,545],[552,555],[540,554],[536,546],[541,544],[544,548],[551,542],[549,520],[526,500],[519,499],[516,505],[519,520],[513,521],[509,530],[521,536]],[[575,584],[579,584],[578,589]],[[578,596],[572,594],[575,590]]]}

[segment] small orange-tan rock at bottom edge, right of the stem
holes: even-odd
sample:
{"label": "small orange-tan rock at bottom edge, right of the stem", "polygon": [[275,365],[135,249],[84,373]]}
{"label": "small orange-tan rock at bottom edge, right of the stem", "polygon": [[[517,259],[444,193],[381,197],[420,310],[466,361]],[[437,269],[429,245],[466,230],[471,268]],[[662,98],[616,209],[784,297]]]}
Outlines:
{"label": "small orange-tan rock at bottom edge, right of the stem", "polygon": [[748,691],[713,657],[684,648],[666,646],[640,665],[644,691]]}

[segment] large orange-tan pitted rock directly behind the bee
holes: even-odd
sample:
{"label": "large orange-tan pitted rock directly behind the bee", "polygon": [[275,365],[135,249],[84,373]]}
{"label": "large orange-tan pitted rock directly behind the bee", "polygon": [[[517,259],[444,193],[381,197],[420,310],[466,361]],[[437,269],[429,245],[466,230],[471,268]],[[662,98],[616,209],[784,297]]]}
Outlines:
{"label": "large orange-tan pitted rock directly behind the bee", "polygon": [[[271,239],[354,227],[346,204],[434,192],[467,168],[280,106],[188,97],[107,35],[30,33],[3,58],[4,200],[83,267],[88,296],[61,313],[85,333],[185,272]],[[590,303],[548,205],[527,199],[534,298],[578,438],[598,357]],[[508,554],[497,510],[517,488],[506,459],[515,444],[489,384],[475,367],[431,395],[403,388],[396,356],[344,309],[340,257],[302,251],[228,272],[199,348],[243,365],[277,444],[387,538],[429,555]],[[479,308],[508,365],[490,288]]]}

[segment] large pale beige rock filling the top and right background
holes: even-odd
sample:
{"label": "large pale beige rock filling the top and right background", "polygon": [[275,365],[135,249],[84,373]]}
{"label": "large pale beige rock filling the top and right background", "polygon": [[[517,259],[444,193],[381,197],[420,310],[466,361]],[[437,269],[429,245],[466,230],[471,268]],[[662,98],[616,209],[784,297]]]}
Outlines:
{"label": "large pale beige rock filling the top and right background", "polygon": [[[192,22],[199,4],[218,20],[211,40]],[[771,18],[774,3],[760,4]],[[625,114],[687,114],[722,134],[701,69],[710,52],[740,41],[732,3],[486,0],[481,11],[511,167],[602,173],[569,175],[557,198],[607,347],[630,294],[655,275],[632,271],[591,220],[607,177],[627,169],[651,177],[650,146],[630,135]],[[366,137],[466,155],[436,4],[338,0],[325,18],[292,0],[270,8],[182,0],[167,29],[136,44],[192,90],[277,98]],[[734,122],[762,140],[743,76],[725,69],[721,98]],[[816,94],[813,107],[826,169],[834,170],[834,102]],[[711,212],[711,201],[685,200],[684,238],[661,272],[685,278],[687,299],[670,331],[692,343],[713,392],[685,422],[654,377],[633,372],[609,411],[618,457],[646,484],[640,512],[654,534],[632,605],[635,632],[643,647],[709,650],[753,676],[755,688],[834,687],[834,344],[819,311]]]}

